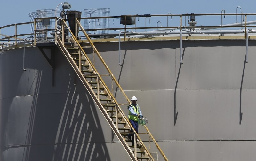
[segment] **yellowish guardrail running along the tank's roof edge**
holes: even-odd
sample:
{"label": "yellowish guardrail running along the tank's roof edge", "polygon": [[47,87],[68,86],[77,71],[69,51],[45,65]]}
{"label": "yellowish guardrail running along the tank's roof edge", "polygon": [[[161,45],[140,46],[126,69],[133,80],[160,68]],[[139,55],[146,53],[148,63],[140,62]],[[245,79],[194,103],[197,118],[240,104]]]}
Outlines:
{"label": "yellowish guardrail running along the tank's roof edge", "polygon": [[[223,16],[225,16],[224,19],[223,19]],[[241,16],[241,22],[236,21],[237,16]],[[204,36],[236,35],[237,36],[237,34],[239,33],[240,34],[244,33],[243,37],[246,38],[245,34],[246,34],[247,28],[250,29],[248,34],[256,33],[256,30],[253,29],[253,28],[256,28],[256,25],[252,25],[252,24],[256,24],[256,21],[254,20],[256,19],[255,16],[256,16],[255,13],[249,13],[249,14],[244,14],[244,13],[240,13],[240,14],[233,14],[233,13],[170,14],[168,13],[168,14],[158,14],[158,15],[136,14],[136,15],[122,15],[122,16],[108,16],[108,17],[85,17],[85,18],[78,18],[78,20],[84,21],[86,19],[87,20],[89,19],[89,22],[92,22],[92,23],[94,23],[94,21],[95,22],[97,21],[97,23],[94,23],[95,24],[94,28],[91,28],[93,27],[93,25],[87,26],[85,24],[84,30],[86,32],[98,31],[98,30],[111,31],[109,34],[94,34],[93,32],[88,33],[91,39],[118,38],[119,32],[125,31],[130,33],[124,33],[121,36],[152,37],[152,36],[172,35],[172,37],[174,37],[174,35],[177,35],[176,39],[179,40],[179,37],[180,37],[179,35],[181,30],[189,31],[189,32],[182,33],[182,34],[188,34],[188,39],[196,39],[196,37],[192,37],[192,35],[200,35],[200,36],[202,35]],[[242,21],[243,17],[244,17],[244,22]],[[140,18],[140,21],[139,21],[139,18]],[[146,20],[146,18],[148,20]],[[20,41],[23,41],[25,37],[35,36],[35,34],[37,34],[36,36],[38,38],[41,38],[42,42],[52,42],[52,40],[54,40],[55,33],[59,35],[62,32],[60,25],[57,25],[58,19],[59,18],[57,17],[56,18],[55,17],[36,18],[34,22],[17,23],[17,24],[0,27],[0,45],[1,45],[0,48],[17,45]],[[110,28],[105,28],[105,27],[98,28],[97,24],[101,22],[100,19],[104,19],[104,20],[109,19],[111,21]],[[120,24],[121,21],[122,21],[122,24]],[[160,27],[157,25],[159,21],[161,22]],[[34,28],[36,33],[31,33],[31,30],[29,30],[28,28],[29,26],[34,27],[34,23],[36,23],[37,25]],[[207,25],[205,25],[206,23]],[[99,25],[99,26],[102,27],[103,25]],[[237,28],[241,28],[241,29],[237,29]],[[145,29],[147,29],[147,31],[145,31]],[[45,39],[45,41],[43,41],[43,39]],[[83,40],[83,39],[86,39],[86,37],[81,36],[79,37],[79,39]]]}

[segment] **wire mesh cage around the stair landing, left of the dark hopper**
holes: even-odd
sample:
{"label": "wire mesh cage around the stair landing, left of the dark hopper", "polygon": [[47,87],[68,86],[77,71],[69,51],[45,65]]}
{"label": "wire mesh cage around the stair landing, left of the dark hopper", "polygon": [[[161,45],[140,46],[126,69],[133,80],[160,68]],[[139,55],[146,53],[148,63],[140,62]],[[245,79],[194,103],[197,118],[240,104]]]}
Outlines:
{"label": "wire mesh cage around the stair landing, left of the dark hopper", "polygon": [[[55,30],[55,19],[38,19],[38,18],[49,18],[49,17],[60,17],[61,9],[43,9],[36,10],[36,12],[28,13],[30,21],[33,22],[37,19],[36,30],[45,30],[36,32],[37,42],[54,42],[53,32]],[[34,23],[31,23],[31,34],[34,35]]]}

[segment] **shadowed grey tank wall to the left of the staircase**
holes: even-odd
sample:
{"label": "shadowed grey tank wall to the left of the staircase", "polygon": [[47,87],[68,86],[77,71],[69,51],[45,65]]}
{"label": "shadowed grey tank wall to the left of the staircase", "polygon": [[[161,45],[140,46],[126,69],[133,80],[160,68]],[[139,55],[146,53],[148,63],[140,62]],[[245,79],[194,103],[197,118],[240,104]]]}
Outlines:
{"label": "shadowed grey tank wall to the left of the staircase", "polygon": [[[51,51],[52,50],[52,51]],[[56,47],[0,52],[0,160],[130,160]]]}

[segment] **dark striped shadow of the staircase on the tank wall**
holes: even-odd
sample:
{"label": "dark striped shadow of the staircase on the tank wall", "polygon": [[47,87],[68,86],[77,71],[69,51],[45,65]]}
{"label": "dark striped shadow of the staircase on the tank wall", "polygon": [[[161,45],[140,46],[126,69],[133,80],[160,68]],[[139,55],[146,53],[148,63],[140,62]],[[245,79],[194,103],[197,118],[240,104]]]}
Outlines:
{"label": "dark striped shadow of the staircase on the tank wall", "polygon": [[[63,90],[59,89],[60,85],[58,90],[56,86],[47,87],[54,92],[45,95],[39,90],[44,86],[36,84],[36,97],[32,104],[35,110],[30,116],[28,147],[25,147],[23,159],[110,161],[112,152],[105,140],[109,134],[104,134],[102,127],[105,125],[104,117],[82,82],[77,81],[74,86],[74,80],[79,78],[67,60],[62,55],[58,55],[58,60],[61,62],[59,65],[64,66],[56,69],[65,69],[65,73],[55,78],[56,82],[62,82]],[[49,74],[40,75],[38,79],[45,77]]]}

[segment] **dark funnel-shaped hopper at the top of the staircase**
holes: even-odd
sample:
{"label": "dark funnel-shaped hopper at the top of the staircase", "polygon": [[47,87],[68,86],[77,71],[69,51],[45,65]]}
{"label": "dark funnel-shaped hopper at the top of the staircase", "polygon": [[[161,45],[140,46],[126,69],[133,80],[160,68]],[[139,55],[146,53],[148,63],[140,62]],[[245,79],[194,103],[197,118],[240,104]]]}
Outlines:
{"label": "dark funnel-shaped hopper at the top of the staircase", "polygon": [[[69,28],[72,32],[72,34],[74,34],[76,37],[76,30],[79,29],[79,27],[77,26],[76,29],[76,18],[81,18],[82,12],[79,11],[66,11],[67,14],[67,18],[68,18],[68,24],[69,24]],[[80,22],[80,19],[79,19]],[[78,34],[78,31],[77,31]]]}

